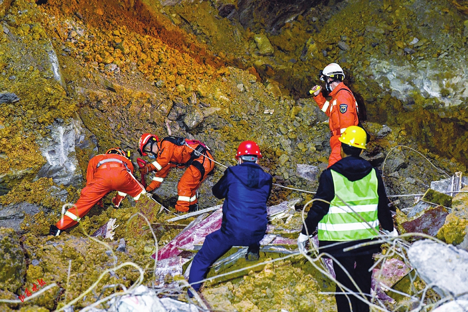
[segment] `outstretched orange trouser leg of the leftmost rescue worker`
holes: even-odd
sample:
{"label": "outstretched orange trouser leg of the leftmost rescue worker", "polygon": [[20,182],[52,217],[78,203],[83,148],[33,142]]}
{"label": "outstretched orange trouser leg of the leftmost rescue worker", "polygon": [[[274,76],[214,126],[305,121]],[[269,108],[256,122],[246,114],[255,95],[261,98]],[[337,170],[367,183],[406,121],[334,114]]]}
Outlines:
{"label": "outstretched orange trouser leg of the leftmost rescue worker", "polygon": [[[81,195],[78,199],[78,201],[75,203],[74,207],[68,209],[67,212],[73,215],[77,216],[78,218],[82,218],[85,216],[91,208],[93,208],[94,205],[102,198],[104,197],[107,193],[112,191],[111,188],[109,188],[102,180],[97,180],[91,185],[86,186],[81,190]],[[56,227],[59,228],[59,230],[66,230],[75,224],[78,223],[78,221],[72,219],[72,217],[68,215],[63,215],[63,217],[57,222]]]}

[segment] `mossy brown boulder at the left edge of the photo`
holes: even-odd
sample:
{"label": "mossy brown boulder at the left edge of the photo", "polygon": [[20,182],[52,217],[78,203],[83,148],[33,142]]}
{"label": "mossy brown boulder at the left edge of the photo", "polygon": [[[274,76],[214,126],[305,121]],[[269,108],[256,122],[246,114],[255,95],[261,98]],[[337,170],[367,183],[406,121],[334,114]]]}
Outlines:
{"label": "mossy brown boulder at the left edge of the photo", "polygon": [[24,283],[26,260],[13,229],[0,228],[0,289],[16,292]]}

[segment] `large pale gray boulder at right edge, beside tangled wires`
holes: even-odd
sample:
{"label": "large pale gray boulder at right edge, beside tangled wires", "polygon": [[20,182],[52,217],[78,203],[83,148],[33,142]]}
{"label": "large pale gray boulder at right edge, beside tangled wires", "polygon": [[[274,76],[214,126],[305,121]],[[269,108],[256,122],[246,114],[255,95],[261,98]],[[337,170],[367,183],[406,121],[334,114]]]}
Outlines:
{"label": "large pale gray boulder at right edge, beside tangled wires", "polygon": [[[441,296],[453,295],[468,300],[468,253],[454,246],[430,240],[415,242],[408,251],[409,261],[427,283],[435,285]],[[463,295],[461,295],[464,293]]]}

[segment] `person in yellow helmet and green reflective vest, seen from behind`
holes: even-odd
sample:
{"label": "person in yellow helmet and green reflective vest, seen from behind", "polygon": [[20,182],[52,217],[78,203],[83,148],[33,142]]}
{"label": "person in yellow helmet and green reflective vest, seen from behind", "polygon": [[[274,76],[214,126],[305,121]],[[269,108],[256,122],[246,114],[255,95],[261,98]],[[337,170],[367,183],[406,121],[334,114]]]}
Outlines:
{"label": "person in yellow helmet and green reflective vest, seen from behind", "polygon": [[382,177],[369,161],[360,157],[367,145],[366,132],[358,126],[350,126],[339,140],[342,143],[342,159],[322,173],[314,197],[331,204],[320,200],[312,203],[297,245],[304,252],[309,240],[307,234],[317,229],[319,252],[330,254],[341,263],[366,295],[366,298],[360,295],[348,275],[333,260],[336,280],[355,293],[346,296],[336,286],[338,312],[369,312],[367,300],[370,299],[372,277],[369,269],[374,263],[372,254],[379,252],[380,246],[369,245],[347,252],[343,250],[376,238],[379,225],[390,236],[397,236],[398,233],[393,227]]}

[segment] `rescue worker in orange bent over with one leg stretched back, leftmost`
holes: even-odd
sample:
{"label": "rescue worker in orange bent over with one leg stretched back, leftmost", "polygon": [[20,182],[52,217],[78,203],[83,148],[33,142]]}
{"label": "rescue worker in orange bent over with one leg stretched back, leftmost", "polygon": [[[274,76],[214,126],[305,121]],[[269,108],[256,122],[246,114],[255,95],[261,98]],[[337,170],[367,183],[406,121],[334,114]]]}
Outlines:
{"label": "rescue worker in orange bent over with one leg stretched back, leftmost", "polygon": [[103,207],[102,198],[109,192],[117,191],[112,198],[116,208],[127,194],[138,200],[146,191],[132,172],[132,162],[121,148],[111,148],[106,154],[91,158],[86,172],[86,186],[81,190],[78,201],[56,225],[50,226],[49,235],[58,236],[61,231],[76,225],[94,205]]}

